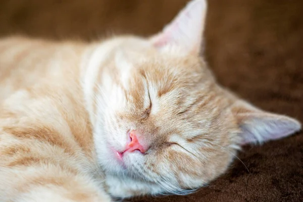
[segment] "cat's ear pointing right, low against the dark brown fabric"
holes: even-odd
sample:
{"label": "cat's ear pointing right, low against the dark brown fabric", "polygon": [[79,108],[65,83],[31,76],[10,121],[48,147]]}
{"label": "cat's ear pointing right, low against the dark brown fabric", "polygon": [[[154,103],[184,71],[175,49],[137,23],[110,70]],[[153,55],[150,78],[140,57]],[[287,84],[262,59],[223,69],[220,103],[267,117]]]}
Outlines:
{"label": "cat's ear pointing right, low against the dark brown fabric", "polygon": [[297,120],[262,111],[244,100],[235,102],[231,110],[241,129],[241,144],[280,139],[301,129]]}

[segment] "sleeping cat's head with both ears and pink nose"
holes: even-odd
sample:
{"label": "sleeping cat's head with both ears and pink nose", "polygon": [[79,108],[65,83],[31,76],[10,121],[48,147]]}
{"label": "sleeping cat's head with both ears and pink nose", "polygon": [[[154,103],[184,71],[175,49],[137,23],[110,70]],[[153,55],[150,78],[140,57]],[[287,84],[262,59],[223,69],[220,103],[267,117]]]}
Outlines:
{"label": "sleeping cat's head with both ears and pink nose", "polygon": [[98,163],[109,175],[131,179],[136,185],[124,183],[138,194],[203,186],[226,171],[242,144],[300,129],[216,83],[199,56],[206,10],[205,1],[192,1],[159,34],[109,39],[88,63]]}

